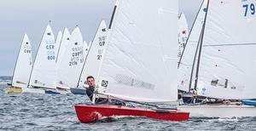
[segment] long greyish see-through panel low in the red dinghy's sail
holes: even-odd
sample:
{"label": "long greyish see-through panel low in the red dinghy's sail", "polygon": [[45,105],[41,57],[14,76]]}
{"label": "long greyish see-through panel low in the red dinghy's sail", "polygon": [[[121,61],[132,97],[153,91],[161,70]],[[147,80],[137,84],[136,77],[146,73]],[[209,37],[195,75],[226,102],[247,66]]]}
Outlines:
{"label": "long greyish see-through panel low in the red dinghy's sail", "polygon": [[116,75],[116,81],[120,84],[124,84],[127,86],[135,87],[135,88],[145,88],[145,89],[154,89],[154,84],[143,82],[136,78],[128,77],[125,75]]}

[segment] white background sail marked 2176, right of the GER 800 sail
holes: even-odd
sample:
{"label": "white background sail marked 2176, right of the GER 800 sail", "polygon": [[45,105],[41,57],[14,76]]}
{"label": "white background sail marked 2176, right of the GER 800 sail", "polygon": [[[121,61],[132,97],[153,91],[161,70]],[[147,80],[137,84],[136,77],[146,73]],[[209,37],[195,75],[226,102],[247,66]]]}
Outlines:
{"label": "white background sail marked 2176, right of the GER 800 sail", "polygon": [[60,60],[60,64],[58,65],[58,88],[71,88],[77,86],[84,60],[83,37],[79,27],[75,27],[71,34],[70,41],[67,43],[63,59]]}

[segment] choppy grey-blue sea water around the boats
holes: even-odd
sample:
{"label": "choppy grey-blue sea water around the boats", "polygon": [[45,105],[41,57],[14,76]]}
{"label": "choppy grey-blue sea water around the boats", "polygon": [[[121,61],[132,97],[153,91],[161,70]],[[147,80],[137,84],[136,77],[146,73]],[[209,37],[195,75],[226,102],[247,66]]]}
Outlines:
{"label": "choppy grey-blue sea water around the boats", "polygon": [[0,130],[256,130],[256,117],[190,118],[185,122],[114,117],[80,123],[73,105],[88,102],[73,94],[5,94],[0,85]]}

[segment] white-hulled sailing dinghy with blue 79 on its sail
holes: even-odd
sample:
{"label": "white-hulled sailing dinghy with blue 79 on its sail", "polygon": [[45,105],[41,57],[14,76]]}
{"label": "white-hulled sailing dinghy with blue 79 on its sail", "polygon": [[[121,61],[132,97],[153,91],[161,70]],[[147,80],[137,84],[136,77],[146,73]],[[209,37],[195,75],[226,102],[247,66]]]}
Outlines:
{"label": "white-hulled sailing dinghy with blue 79 on its sail", "polygon": [[[184,54],[190,49],[196,50],[190,57],[194,57],[190,60],[194,66],[188,68],[190,75],[186,81],[197,91],[197,97],[226,103],[203,104],[202,101],[178,108],[189,111],[191,117],[256,117],[255,106],[241,103],[241,100],[256,98],[256,19],[253,8],[246,8],[254,7],[255,1],[205,0],[204,3],[207,3],[207,12],[203,27],[197,32],[200,37],[197,49],[186,47],[184,50]],[[181,64],[184,62],[188,61],[182,60]]]}

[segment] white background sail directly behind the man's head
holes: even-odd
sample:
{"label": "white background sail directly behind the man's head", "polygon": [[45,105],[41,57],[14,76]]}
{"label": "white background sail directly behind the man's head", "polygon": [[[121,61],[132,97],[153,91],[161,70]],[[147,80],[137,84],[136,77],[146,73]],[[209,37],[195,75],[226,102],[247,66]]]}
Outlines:
{"label": "white background sail directly behind the man's head", "polygon": [[[85,86],[86,77],[96,77],[99,74],[100,67],[102,65],[102,55],[105,52],[108,42],[108,27],[106,22],[102,20],[96,35],[91,43],[89,53],[86,57],[84,68],[79,79],[79,87]],[[97,80],[96,80],[97,82]]]}

